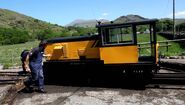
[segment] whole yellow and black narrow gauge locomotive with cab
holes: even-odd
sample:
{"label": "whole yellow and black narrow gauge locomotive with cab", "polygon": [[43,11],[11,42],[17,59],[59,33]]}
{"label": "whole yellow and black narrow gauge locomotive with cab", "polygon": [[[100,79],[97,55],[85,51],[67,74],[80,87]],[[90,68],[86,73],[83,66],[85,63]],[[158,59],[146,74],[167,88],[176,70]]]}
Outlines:
{"label": "whole yellow and black narrow gauge locomotive with cab", "polygon": [[[156,19],[122,24],[101,24],[97,35],[47,40],[45,78],[87,79],[108,77],[150,77],[158,70]],[[149,54],[140,54],[138,29],[146,25]]]}

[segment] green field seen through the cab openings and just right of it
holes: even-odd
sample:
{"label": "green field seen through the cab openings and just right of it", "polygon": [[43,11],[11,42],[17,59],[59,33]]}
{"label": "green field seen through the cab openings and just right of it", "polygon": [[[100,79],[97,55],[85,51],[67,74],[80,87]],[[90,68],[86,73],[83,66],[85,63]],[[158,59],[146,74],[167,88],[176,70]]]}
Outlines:
{"label": "green field seen through the cab openings and just right of it", "polygon": [[[130,41],[132,40],[131,35],[124,35],[124,36],[118,36],[120,40],[122,41]],[[117,36],[111,36],[111,41],[117,42]],[[185,51],[185,48],[181,48],[179,43],[177,42],[169,42],[169,43],[161,43],[160,41],[165,41],[166,38],[157,35],[157,41],[159,44],[158,53],[160,55],[164,56],[176,56],[181,55],[182,52]],[[147,43],[150,42],[150,35],[149,34],[138,34],[137,35],[137,41],[138,43]],[[169,45],[168,47],[166,45]],[[139,55],[140,56],[150,56],[151,55],[151,45],[150,44],[142,44],[140,47],[148,47],[148,48],[142,48],[139,49]]]}

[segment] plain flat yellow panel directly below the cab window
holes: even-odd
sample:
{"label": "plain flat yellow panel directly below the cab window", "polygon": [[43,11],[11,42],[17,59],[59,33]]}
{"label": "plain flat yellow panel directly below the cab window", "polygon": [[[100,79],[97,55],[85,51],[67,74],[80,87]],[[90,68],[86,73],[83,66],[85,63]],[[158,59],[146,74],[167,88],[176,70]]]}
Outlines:
{"label": "plain flat yellow panel directly below the cab window", "polygon": [[100,48],[100,59],[104,60],[104,64],[138,63],[138,47],[102,47]]}

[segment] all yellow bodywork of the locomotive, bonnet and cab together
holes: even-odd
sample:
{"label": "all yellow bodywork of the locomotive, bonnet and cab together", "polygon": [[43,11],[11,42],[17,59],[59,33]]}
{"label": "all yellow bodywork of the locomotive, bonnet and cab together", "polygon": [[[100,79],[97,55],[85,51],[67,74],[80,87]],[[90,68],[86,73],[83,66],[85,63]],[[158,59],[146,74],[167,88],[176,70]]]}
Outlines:
{"label": "all yellow bodywork of the locomotive, bonnet and cab together", "polygon": [[[48,44],[45,49],[47,60],[100,59],[104,64],[138,63],[138,46],[95,47],[95,40]],[[158,44],[156,54],[158,61]],[[156,63],[157,63],[156,61]]]}

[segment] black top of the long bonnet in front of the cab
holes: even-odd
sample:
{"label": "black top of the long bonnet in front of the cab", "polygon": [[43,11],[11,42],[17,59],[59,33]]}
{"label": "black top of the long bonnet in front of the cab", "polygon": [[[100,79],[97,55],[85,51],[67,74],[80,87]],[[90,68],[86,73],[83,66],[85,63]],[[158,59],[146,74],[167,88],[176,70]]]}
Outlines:
{"label": "black top of the long bonnet in front of the cab", "polygon": [[49,39],[49,40],[47,40],[47,43],[84,41],[84,40],[94,40],[97,38],[98,38],[98,35],[69,36],[69,37]]}

